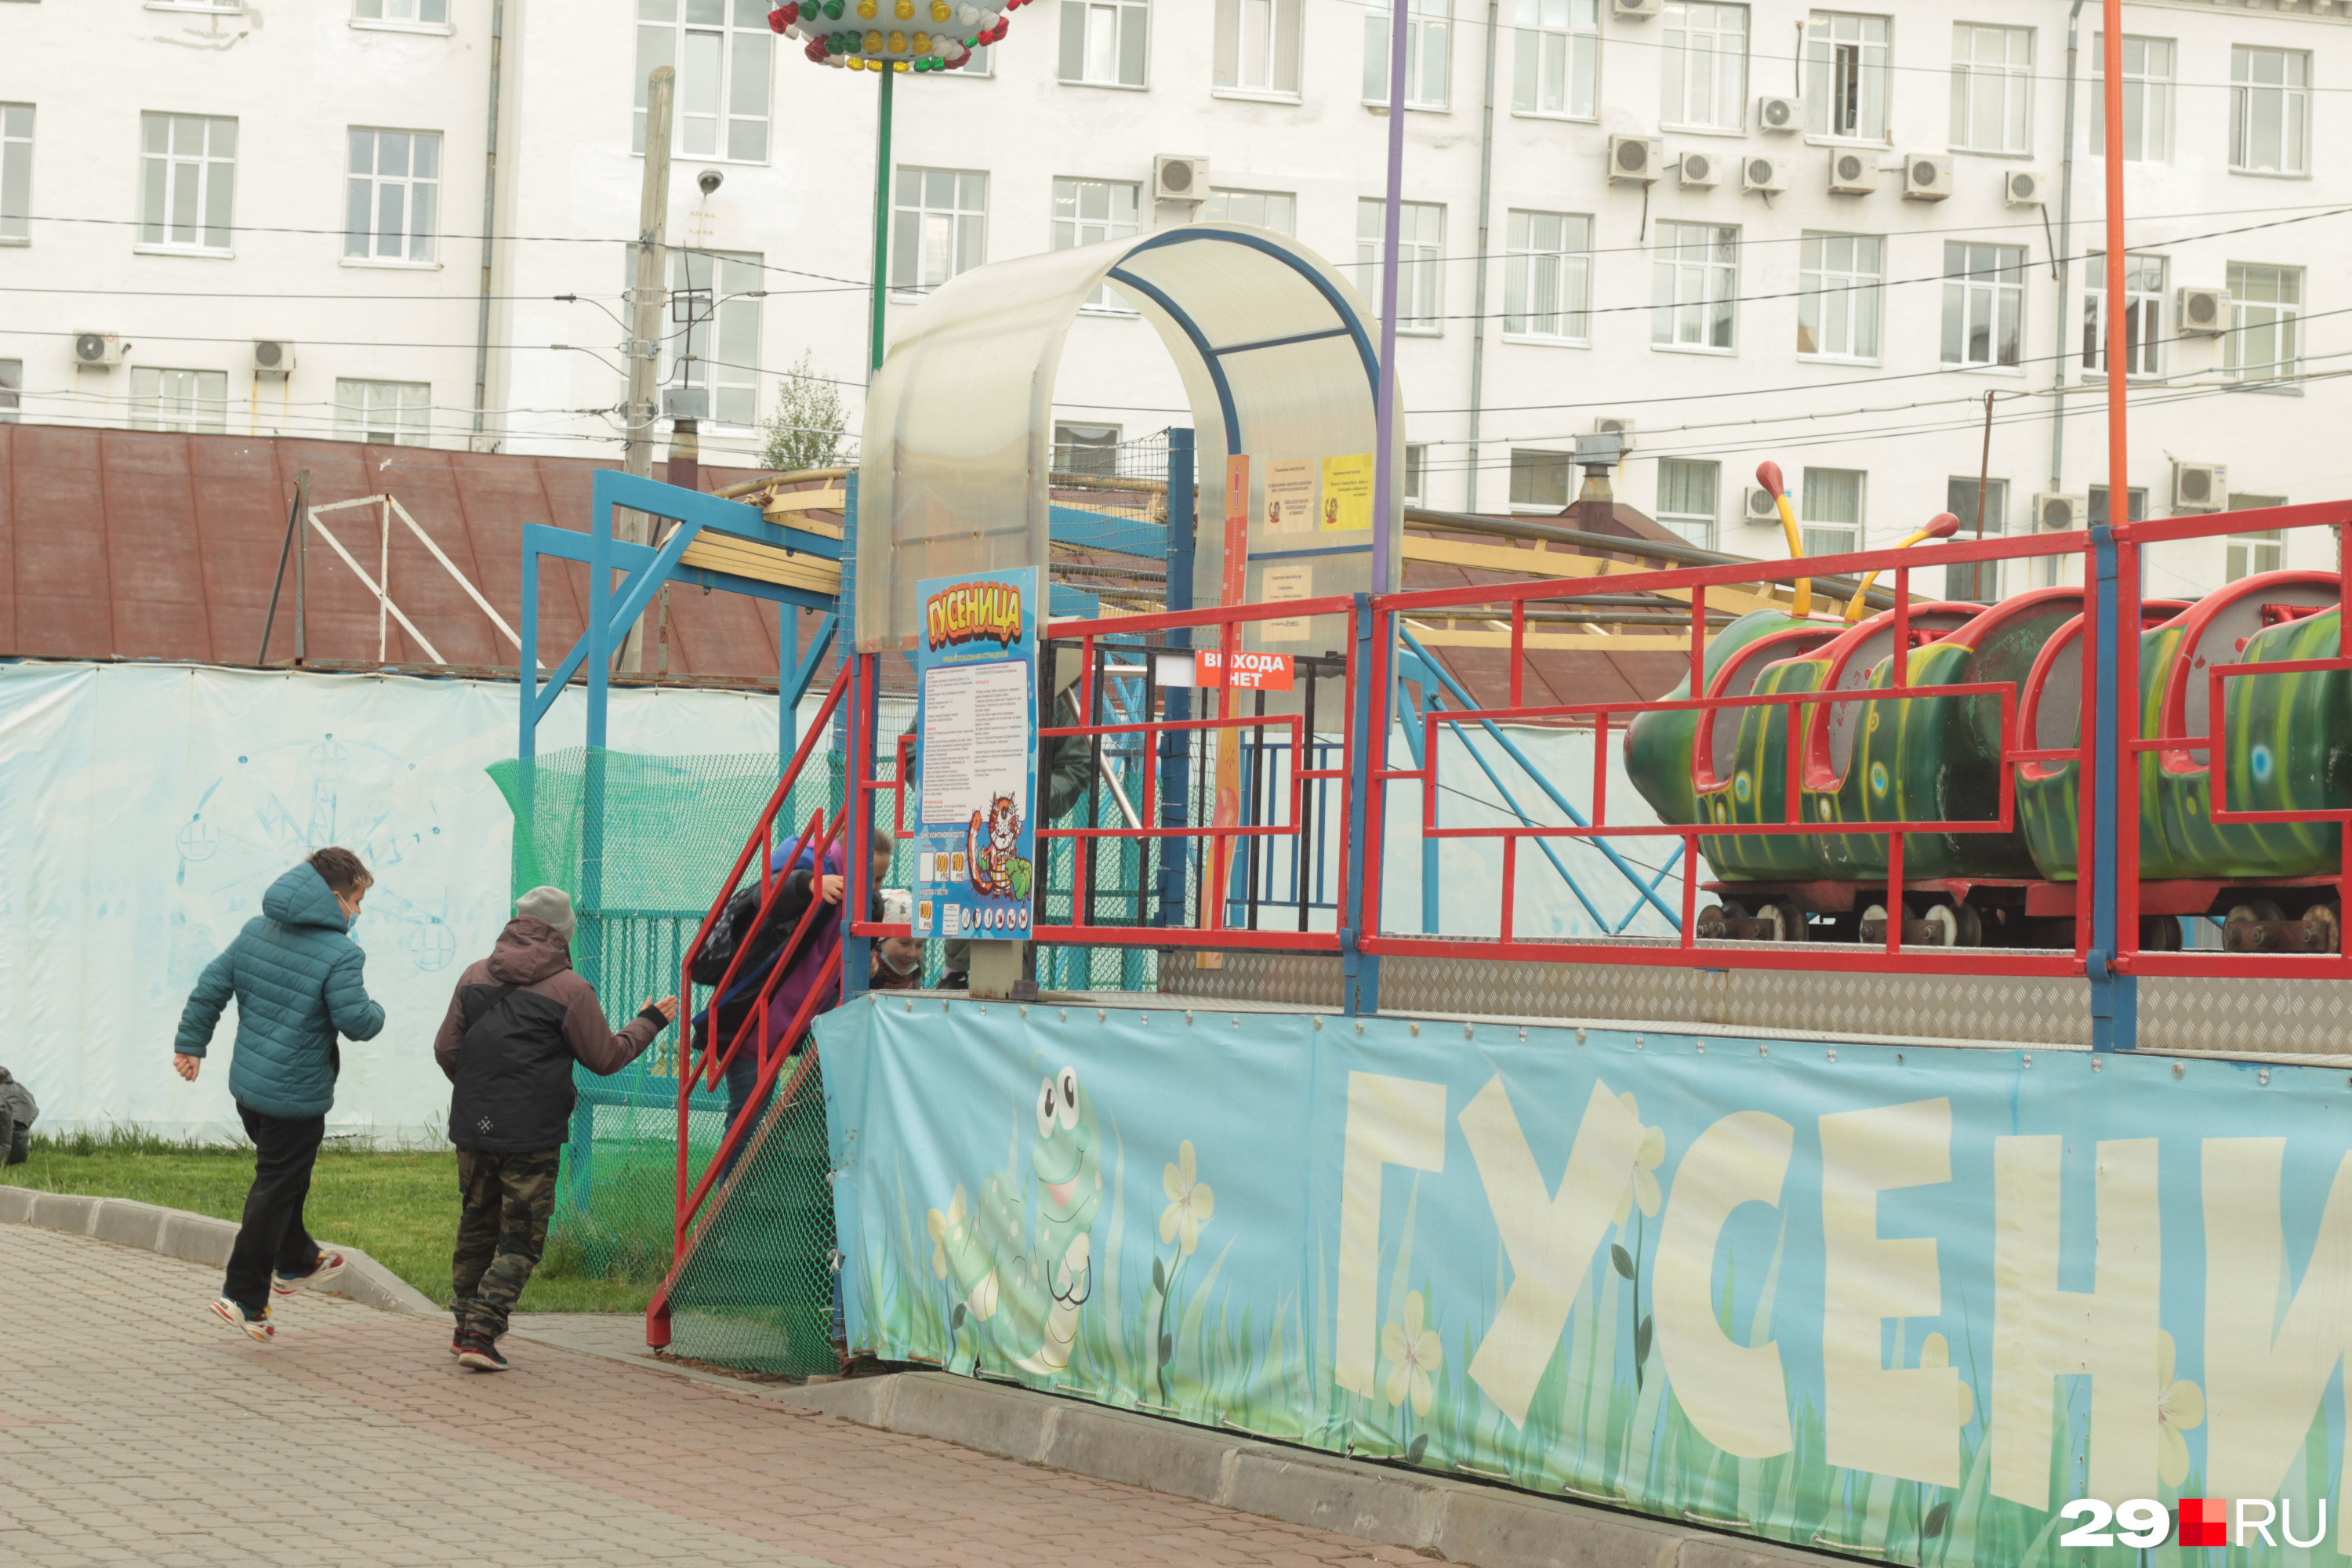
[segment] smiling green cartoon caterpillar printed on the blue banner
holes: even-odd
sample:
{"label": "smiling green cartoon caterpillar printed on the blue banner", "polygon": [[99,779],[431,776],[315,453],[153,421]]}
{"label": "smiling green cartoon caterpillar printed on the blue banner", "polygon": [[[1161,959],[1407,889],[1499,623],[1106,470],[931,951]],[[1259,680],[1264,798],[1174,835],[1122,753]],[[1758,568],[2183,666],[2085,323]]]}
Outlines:
{"label": "smiling green cartoon caterpillar printed on the blue banner", "polygon": [[1037,1091],[1035,1244],[1023,1237],[1023,1199],[1007,1175],[988,1178],[976,1211],[957,1187],[946,1213],[929,1215],[931,1272],[955,1286],[964,1312],[995,1321],[997,1345],[1030,1373],[1070,1366],[1077,1309],[1094,1295],[1094,1215],[1103,1206],[1096,1140],[1094,1103],[1063,1067]]}

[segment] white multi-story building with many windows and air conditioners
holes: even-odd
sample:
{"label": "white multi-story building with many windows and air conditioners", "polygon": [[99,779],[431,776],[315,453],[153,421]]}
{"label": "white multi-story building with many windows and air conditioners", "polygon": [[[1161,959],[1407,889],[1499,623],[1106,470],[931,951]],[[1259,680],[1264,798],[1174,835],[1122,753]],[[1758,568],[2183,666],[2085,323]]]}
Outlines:
{"label": "white multi-story building with many windows and air conditioners", "polygon": [[[1621,498],[1724,550],[1780,552],[1759,458],[1816,550],[1973,524],[1980,468],[1987,531],[2105,515],[2096,0],[1409,7],[1416,501],[1555,512],[1573,437],[1621,423]],[[901,75],[891,320],[964,268],[1192,219],[1294,233],[1374,296],[1388,16],[1042,0],[978,68]],[[2352,0],[2124,24],[2131,510],[2352,494]],[[762,0],[0,0],[0,418],[616,454],[659,63],[673,284],[715,301],[666,329],[666,376],[710,390],[706,461],[753,458],[802,355],[854,428],[877,78],[807,63]],[[1204,200],[1157,200],[1160,155],[1204,162]],[[1117,296],[1056,395],[1077,463],[1185,418]],[[2279,559],[2178,548],[2147,590]]]}

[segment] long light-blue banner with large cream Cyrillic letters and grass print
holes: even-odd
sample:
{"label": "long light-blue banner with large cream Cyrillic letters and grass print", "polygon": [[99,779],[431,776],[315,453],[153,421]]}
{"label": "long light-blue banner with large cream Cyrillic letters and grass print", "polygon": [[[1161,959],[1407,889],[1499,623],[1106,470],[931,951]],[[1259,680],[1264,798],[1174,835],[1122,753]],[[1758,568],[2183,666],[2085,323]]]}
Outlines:
{"label": "long light-blue banner with large cream Cyrillic letters and grass print", "polygon": [[2352,1544],[2343,1070],[903,994],[818,1041],[882,1359],[1900,1563]]}

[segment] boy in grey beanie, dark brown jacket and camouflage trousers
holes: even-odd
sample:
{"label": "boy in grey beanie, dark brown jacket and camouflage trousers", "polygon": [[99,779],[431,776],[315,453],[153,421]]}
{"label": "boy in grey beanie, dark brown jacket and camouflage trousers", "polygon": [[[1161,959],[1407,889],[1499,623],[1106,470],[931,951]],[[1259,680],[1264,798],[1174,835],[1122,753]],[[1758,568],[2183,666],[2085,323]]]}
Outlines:
{"label": "boy in grey beanie, dark brown jacket and camouflage trousers", "polygon": [[499,945],[459,976],[433,1060],[449,1074],[449,1143],[463,1213],[449,1284],[463,1366],[503,1373],[499,1335],[539,1267],[555,1213],[555,1171],[572,1128],[572,1063],[609,1077],[677,1018],[677,997],[647,1001],[619,1034],[595,987],[572,971],[572,896],[532,889]]}

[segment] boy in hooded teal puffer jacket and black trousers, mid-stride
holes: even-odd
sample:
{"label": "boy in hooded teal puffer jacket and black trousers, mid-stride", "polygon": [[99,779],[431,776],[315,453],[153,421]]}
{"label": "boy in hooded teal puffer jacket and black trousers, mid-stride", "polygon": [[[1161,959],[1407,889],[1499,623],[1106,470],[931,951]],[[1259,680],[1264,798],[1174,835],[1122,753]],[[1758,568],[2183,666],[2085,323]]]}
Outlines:
{"label": "boy in hooded teal puffer jacket and black trousers, mid-stride", "polygon": [[261,896],[261,914],[205,966],[179,1016],[172,1067],[193,1084],[221,1009],[238,999],[228,1093],[254,1140],[254,1185],[212,1309],[254,1340],[273,1333],[270,1293],[325,1286],[343,1272],[343,1255],[320,1251],[301,1208],[343,1067],[336,1034],[374,1039],[383,1030],[383,1009],[367,999],[367,954],[350,940],[374,882],[348,849],[322,849],[289,870]]}

